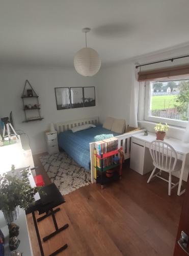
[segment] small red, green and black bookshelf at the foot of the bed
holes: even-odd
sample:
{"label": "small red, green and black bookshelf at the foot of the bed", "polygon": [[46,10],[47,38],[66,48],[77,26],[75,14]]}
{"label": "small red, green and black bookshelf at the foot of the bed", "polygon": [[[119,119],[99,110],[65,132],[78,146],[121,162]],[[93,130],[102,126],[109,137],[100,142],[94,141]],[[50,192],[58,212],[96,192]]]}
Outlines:
{"label": "small red, green and black bookshelf at the foot of the bed", "polygon": [[[96,183],[101,184],[101,188],[104,187],[104,185],[111,183],[113,181],[118,181],[121,179],[122,176],[122,158],[119,158],[119,163],[113,163],[112,165],[103,167],[103,159],[115,156],[117,154],[120,154],[122,152],[122,147],[119,150],[111,151],[108,153],[102,153],[100,156],[96,154],[96,150],[94,151],[94,159],[95,159],[95,175],[94,178],[96,180]],[[101,167],[97,166],[97,158],[101,160]],[[114,173],[112,177],[106,177],[106,171],[114,169]]]}

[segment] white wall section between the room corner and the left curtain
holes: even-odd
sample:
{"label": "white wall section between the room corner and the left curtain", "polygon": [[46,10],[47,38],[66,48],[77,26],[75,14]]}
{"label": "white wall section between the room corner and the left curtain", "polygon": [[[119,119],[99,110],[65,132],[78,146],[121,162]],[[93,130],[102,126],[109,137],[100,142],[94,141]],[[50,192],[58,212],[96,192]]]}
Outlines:
{"label": "white wall section between the room corner and the left curtain", "polygon": [[130,63],[102,68],[97,74],[100,120],[112,116],[123,118],[128,124],[131,94]]}

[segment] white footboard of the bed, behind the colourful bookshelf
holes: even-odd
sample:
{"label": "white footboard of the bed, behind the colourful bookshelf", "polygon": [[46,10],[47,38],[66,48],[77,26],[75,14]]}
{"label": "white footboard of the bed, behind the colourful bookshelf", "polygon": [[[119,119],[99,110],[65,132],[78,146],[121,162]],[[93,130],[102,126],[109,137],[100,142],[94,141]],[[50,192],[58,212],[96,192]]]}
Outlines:
{"label": "white footboard of the bed, behind the colourful bookshelf", "polygon": [[[124,159],[130,158],[130,146],[131,146],[131,137],[134,134],[141,133],[144,130],[138,130],[133,132],[124,133],[122,135],[116,136],[118,141],[118,148],[123,147]],[[94,148],[95,142],[91,142],[90,144],[90,158],[91,158],[91,182],[94,183]]]}

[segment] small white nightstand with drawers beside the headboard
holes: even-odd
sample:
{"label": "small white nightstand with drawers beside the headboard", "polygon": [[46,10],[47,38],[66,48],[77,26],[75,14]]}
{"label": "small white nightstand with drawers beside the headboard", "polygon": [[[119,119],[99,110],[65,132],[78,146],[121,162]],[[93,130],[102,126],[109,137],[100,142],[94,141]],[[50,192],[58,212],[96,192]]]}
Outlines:
{"label": "small white nightstand with drawers beside the headboard", "polygon": [[59,153],[57,132],[45,132],[48,154]]}

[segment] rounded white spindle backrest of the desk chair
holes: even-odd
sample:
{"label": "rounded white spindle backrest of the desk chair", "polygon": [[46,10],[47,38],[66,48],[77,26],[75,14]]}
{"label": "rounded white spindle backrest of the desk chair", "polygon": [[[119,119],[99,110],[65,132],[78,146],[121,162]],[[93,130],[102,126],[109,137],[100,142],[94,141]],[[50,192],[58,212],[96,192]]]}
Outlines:
{"label": "rounded white spindle backrest of the desk chair", "polygon": [[174,148],[162,140],[154,140],[149,146],[150,154],[155,166],[172,172],[177,163],[177,154]]}

